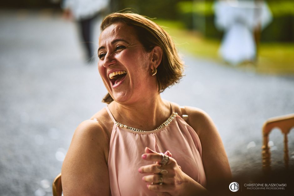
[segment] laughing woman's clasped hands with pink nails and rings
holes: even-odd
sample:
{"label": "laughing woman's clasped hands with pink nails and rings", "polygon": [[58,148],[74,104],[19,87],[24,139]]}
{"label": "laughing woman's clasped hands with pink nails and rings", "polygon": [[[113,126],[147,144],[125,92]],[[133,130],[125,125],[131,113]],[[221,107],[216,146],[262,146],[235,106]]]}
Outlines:
{"label": "laughing woman's clasped hands with pink nails and rings", "polygon": [[151,184],[147,184],[148,189],[156,192],[158,195],[186,195],[185,191],[193,179],[181,170],[176,160],[171,157],[169,151],[166,151],[164,154],[169,156],[169,161],[166,165],[160,163],[163,159],[162,154],[148,147],[145,148],[145,154],[142,155],[142,158],[147,161],[155,161],[156,164],[145,165],[139,168],[138,171],[140,173],[148,173],[142,180],[150,182]]}

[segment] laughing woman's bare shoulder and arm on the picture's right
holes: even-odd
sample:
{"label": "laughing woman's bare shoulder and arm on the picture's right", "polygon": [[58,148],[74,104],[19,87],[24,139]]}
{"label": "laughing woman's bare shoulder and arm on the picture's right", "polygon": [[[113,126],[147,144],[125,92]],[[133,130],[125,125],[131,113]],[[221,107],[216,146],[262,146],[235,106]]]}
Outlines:
{"label": "laughing woman's bare shoulder and arm on the picture's right", "polygon": [[[185,107],[189,115],[188,123],[196,131],[202,147],[202,162],[210,191],[227,188],[231,178],[231,169],[221,137],[212,119],[203,110]],[[229,186],[229,184],[227,184]]]}

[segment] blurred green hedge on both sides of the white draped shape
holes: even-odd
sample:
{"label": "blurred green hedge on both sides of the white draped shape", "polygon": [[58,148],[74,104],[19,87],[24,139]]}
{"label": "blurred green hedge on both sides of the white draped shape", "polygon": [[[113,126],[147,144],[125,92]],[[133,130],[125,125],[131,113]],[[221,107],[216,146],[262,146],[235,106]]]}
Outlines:
{"label": "blurred green hedge on both sides of the white draped shape", "polygon": [[[253,1],[253,0],[252,0]],[[188,29],[194,29],[207,38],[222,37],[214,25],[214,1],[181,1],[177,4],[179,19]],[[294,1],[269,1],[272,23],[264,29],[261,41],[294,42]]]}

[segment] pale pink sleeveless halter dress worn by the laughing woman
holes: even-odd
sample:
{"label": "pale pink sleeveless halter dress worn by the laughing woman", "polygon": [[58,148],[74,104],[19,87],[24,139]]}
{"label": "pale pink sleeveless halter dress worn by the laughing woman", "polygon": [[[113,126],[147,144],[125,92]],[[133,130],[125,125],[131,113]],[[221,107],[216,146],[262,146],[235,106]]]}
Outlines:
{"label": "pale pink sleeveless halter dress worn by the laughing woman", "polygon": [[[146,174],[138,172],[141,166],[155,163],[141,158],[145,147],[163,153],[169,150],[184,173],[206,186],[199,137],[183,118],[177,115],[168,126],[154,131],[136,132],[117,126],[108,107],[106,110],[114,122],[108,157],[112,196],[157,196],[142,181]],[[172,110],[174,112],[173,106]]]}

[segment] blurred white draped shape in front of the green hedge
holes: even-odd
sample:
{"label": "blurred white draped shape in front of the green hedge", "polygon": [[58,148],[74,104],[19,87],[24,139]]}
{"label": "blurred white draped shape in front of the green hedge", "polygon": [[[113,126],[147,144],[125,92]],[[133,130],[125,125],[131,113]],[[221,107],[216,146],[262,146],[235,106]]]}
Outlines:
{"label": "blurred white draped shape in front of the green hedge", "polygon": [[219,54],[228,63],[237,65],[256,58],[253,31],[265,28],[272,16],[267,4],[253,0],[222,0],[214,4],[216,28],[225,32]]}

